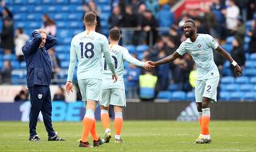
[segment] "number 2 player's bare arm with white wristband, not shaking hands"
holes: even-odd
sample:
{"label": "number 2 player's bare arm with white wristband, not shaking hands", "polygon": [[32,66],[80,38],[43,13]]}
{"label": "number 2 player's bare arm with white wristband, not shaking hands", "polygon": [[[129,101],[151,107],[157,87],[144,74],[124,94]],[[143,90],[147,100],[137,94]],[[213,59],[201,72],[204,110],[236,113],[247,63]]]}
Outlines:
{"label": "number 2 player's bare arm with white wristband, not shaking hands", "polygon": [[226,58],[226,60],[229,60],[230,63],[234,66],[234,70],[236,71],[238,76],[242,76],[242,69],[241,67],[237,64],[237,62],[230,56],[229,53],[225,51],[225,49],[222,49],[220,45],[218,45],[218,48],[216,49],[219,53],[222,54],[223,57]]}

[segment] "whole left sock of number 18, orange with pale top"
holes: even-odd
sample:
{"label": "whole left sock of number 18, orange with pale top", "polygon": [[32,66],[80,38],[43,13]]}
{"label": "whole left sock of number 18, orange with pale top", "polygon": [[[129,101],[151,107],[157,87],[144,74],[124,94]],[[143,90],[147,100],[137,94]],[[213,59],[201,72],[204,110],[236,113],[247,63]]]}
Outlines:
{"label": "whole left sock of number 18, orange with pale top", "polygon": [[88,142],[88,136],[91,128],[93,127],[94,119],[94,110],[86,109],[86,115],[82,120],[82,142]]}

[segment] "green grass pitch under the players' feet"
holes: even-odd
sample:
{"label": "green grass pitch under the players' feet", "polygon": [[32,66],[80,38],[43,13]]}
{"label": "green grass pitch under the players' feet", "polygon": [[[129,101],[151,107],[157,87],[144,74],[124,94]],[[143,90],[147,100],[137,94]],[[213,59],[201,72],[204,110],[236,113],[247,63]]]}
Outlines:
{"label": "green grass pitch under the players' feet", "polygon": [[[102,124],[97,125],[98,134],[103,136]],[[110,143],[90,149],[78,147],[82,123],[54,123],[54,128],[65,142],[48,142],[43,123],[38,123],[42,141],[29,142],[28,123],[0,122],[0,151],[256,151],[256,121],[211,121],[213,142],[204,145],[194,143],[199,134],[197,122],[125,121],[122,144],[114,143],[111,138]]]}

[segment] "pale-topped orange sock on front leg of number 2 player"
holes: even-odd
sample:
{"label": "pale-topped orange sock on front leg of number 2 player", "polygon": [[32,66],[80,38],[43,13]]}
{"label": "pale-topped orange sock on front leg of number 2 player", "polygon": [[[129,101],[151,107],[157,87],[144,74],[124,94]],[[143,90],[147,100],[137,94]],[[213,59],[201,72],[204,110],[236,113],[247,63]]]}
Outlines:
{"label": "pale-topped orange sock on front leg of number 2 player", "polygon": [[201,134],[209,134],[209,123],[210,123],[210,108],[202,109],[202,127]]}

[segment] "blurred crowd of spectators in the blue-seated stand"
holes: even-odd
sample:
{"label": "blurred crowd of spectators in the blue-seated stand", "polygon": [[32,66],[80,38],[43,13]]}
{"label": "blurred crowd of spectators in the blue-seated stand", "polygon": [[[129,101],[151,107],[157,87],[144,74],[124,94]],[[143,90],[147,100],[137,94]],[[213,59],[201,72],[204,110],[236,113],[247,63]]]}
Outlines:
{"label": "blurred crowd of spectators in the blue-seated stand", "polygon": [[[29,39],[28,34],[30,33],[28,30],[25,31],[24,27],[18,27],[15,24],[15,14],[22,12],[15,11],[15,13],[12,13],[9,9],[10,2],[8,2],[8,0],[6,2],[2,1],[0,82],[1,84],[22,84],[22,81],[18,81],[18,83],[12,81],[12,71],[17,67],[21,68],[24,64],[21,47]],[[70,4],[70,1],[63,2],[66,2],[64,5]],[[110,14],[105,21],[102,21],[102,18],[106,15],[106,9],[102,7],[100,2],[87,0],[78,3],[78,5],[82,6],[80,11],[82,14],[89,11],[97,14],[97,32],[106,34],[106,27],[109,29],[115,26],[121,27],[122,45],[125,45],[129,52],[139,60],[158,60],[174,53],[181,42],[186,39],[182,32],[184,22],[193,18],[196,21],[198,33],[209,33],[215,37],[216,41],[222,44],[234,60],[242,65],[242,68],[247,68],[246,60],[251,59],[251,54],[256,53],[255,0],[212,0],[212,4],[206,6],[204,10],[200,8],[183,10],[182,16],[174,18],[174,12],[171,9],[176,2],[112,0],[109,2],[110,9],[108,11]],[[42,18],[42,21],[39,20],[39,27],[58,37],[63,31],[58,30],[59,28],[62,29],[62,26],[55,21],[58,18],[53,18],[48,12],[39,15],[37,18]],[[81,24],[79,19],[82,19],[82,16],[81,18],[75,18],[78,18],[77,23]],[[65,21],[68,21],[68,19]],[[82,31],[82,25],[78,27]],[[67,44],[69,45],[70,41]],[[65,51],[69,52],[68,48]],[[60,74],[62,70],[67,68],[64,66],[66,61],[62,60],[63,57],[56,52],[55,49],[50,49],[50,59],[53,67],[52,83],[64,84],[66,77],[61,77]],[[218,53],[214,53],[214,60],[222,76],[235,77],[233,68],[226,64],[226,60]],[[229,67],[231,68],[229,69]],[[126,95],[128,98],[139,97],[141,93],[139,88],[147,85],[147,82],[143,80],[145,75],[151,76],[152,80],[157,77],[157,83],[150,86],[154,88],[155,92],[166,90],[191,92],[194,89],[195,69],[194,62],[189,55],[175,60],[172,64],[162,64],[150,72],[126,64]],[[252,76],[249,75],[248,77]],[[154,99],[156,95],[157,93],[152,98]]]}

